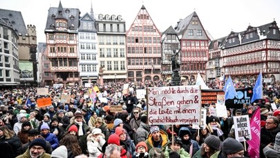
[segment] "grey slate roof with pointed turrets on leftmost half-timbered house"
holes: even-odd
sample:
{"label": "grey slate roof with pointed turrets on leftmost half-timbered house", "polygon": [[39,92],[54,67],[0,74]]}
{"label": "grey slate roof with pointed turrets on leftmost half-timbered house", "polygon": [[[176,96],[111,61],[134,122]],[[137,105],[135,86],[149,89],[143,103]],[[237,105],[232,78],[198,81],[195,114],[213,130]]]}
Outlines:
{"label": "grey slate roof with pointed turrets on leftmost half-timbered house", "polygon": [[[59,6],[60,4],[61,3],[59,2]],[[55,19],[57,19],[57,16],[53,18],[53,15],[57,15],[59,10],[61,10],[61,8],[51,7],[48,9],[48,18],[47,18],[45,30],[52,30],[50,29],[50,25],[52,24],[55,26]],[[66,10],[68,10],[68,12],[66,12]],[[80,13],[81,13],[80,10],[77,8],[62,8],[62,12],[63,12],[62,14],[64,16],[64,19],[67,20],[67,28],[69,28],[69,26],[74,26],[74,30],[77,30],[77,28],[79,28]],[[74,18],[71,19],[71,17]]]}

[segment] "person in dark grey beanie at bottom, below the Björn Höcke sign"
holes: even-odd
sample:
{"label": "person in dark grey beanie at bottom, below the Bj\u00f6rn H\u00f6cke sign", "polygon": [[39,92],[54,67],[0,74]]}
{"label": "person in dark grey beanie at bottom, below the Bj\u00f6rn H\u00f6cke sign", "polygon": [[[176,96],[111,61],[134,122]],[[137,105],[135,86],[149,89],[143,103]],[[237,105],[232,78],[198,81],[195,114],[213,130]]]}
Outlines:
{"label": "person in dark grey beanie at bottom, below the Bj\u00f6rn H\u00f6cke sign", "polygon": [[228,137],[223,141],[222,150],[218,155],[221,155],[222,157],[243,157],[244,147],[236,139]]}

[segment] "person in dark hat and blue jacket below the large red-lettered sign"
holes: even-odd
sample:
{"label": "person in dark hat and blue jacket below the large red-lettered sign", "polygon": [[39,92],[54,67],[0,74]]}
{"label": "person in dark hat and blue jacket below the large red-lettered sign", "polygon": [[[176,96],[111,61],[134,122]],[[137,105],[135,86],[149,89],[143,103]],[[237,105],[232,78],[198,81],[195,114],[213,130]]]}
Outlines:
{"label": "person in dark hat and blue jacket below the large red-lettered sign", "polygon": [[189,155],[194,156],[194,154],[199,150],[199,145],[197,141],[192,139],[192,132],[187,127],[181,127],[178,136],[182,139],[183,148]]}

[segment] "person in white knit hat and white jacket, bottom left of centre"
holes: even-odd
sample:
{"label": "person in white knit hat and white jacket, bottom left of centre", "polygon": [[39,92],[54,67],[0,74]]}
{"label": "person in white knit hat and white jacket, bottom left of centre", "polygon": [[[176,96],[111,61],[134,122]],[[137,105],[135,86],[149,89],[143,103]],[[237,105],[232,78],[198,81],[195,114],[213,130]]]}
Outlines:
{"label": "person in white knit hat and white jacket, bottom left of centre", "polygon": [[106,142],[102,131],[99,128],[94,128],[86,139],[89,157],[98,157],[102,153],[100,150]]}

